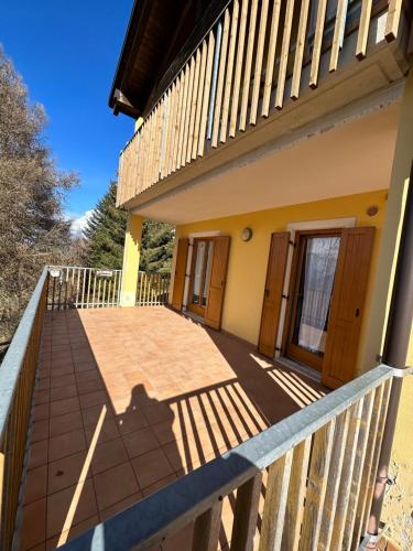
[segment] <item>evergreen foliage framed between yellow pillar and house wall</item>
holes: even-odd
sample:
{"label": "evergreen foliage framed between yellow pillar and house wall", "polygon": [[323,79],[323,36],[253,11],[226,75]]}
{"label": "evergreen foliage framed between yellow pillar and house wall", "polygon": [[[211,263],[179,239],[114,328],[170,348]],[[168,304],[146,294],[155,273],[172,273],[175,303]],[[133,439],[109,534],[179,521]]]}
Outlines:
{"label": "evergreen foliage framed between yellow pillar and house wall", "polygon": [[140,269],[146,272],[167,273],[172,266],[175,229],[171,224],[144,220]]}

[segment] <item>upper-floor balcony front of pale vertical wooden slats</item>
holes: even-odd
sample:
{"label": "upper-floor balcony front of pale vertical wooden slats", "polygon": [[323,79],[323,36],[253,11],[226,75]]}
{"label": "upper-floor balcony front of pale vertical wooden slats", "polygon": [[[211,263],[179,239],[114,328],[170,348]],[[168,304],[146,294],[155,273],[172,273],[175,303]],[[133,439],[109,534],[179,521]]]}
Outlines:
{"label": "upper-floor balcony front of pale vertical wooden slats", "polygon": [[[133,207],[133,199],[144,192],[152,198],[150,190],[162,194],[282,134],[287,126],[279,123],[278,114],[293,112],[317,94],[319,105],[311,106],[309,116],[300,115],[301,125],[354,100],[357,94],[384,86],[372,72],[366,73],[365,82],[355,77],[354,87],[349,79],[359,61],[376,56],[377,62],[380,56],[380,63],[387,63],[385,48],[395,39],[403,39],[405,50],[402,1],[333,4],[327,0],[316,8],[309,0],[228,2],[121,152],[118,205]],[[388,84],[403,76],[402,62],[398,68],[394,60],[389,63]],[[339,100],[322,97],[347,66],[352,68],[347,84],[337,87]],[[261,137],[253,136],[254,129],[262,129]],[[241,143],[242,137],[248,139]],[[238,149],[229,152],[236,143]],[[224,150],[226,155],[219,156]],[[200,158],[208,159],[204,169],[195,163]],[[188,171],[194,164],[197,170]]]}

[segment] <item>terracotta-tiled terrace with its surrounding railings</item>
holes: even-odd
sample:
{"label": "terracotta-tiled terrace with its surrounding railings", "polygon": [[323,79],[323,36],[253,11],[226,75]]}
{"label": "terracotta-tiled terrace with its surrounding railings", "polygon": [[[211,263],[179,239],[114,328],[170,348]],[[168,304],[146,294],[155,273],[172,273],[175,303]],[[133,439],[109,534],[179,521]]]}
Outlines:
{"label": "terracotta-tiled terrace with its surrounding railings", "polygon": [[165,306],[73,307],[87,270],[44,270],[0,369],[2,548],[355,549],[395,371],[325,396]]}

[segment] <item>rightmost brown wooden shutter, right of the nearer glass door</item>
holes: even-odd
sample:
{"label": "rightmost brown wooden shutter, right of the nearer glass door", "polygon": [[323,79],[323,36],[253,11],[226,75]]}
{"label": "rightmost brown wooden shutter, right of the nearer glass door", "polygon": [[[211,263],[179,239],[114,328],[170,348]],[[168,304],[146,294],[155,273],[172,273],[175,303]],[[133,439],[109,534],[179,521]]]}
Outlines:
{"label": "rightmost brown wooden shutter, right of the nearer glass door", "polygon": [[322,380],[330,388],[355,376],[374,228],[344,229],[332,296]]}

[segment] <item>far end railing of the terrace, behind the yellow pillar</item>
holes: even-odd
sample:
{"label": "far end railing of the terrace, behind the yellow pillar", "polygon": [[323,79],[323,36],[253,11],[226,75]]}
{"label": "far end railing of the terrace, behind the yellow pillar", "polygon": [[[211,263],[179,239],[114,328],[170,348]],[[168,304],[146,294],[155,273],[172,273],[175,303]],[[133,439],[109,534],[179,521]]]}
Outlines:
{"label": "far end railing of the terrace, behind the yellow pillar", "polygon": [[[50,310],[116,307],[120,303],[122,270],[77,266],[50,268]],[[167,303],[170,273],[138,273],[137,306]]]}

